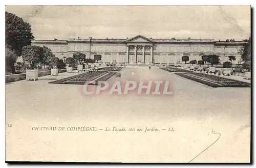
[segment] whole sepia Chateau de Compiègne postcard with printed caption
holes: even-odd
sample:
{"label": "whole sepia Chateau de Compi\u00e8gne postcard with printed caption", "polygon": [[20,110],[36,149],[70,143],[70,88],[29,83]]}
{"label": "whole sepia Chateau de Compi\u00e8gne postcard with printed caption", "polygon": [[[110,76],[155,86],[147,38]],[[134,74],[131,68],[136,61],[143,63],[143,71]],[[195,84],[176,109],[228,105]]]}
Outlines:
{"label": "whole sepia Chateau de Compi\u00e8gne postcard with printed caption", "polygon": [[6,161],[250,163],[250,6],[6,6]]}

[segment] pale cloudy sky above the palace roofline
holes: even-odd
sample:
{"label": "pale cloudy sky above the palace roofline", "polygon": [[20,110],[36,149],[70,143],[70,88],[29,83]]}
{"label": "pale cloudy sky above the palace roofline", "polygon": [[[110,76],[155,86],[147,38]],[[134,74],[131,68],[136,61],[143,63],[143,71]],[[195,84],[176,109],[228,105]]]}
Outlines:
{"label": "pale cloudy sky above the palace roofline", "polygon": [[242,40],[250,6],[6,6],[31,25],[36,40],[68,38]]}

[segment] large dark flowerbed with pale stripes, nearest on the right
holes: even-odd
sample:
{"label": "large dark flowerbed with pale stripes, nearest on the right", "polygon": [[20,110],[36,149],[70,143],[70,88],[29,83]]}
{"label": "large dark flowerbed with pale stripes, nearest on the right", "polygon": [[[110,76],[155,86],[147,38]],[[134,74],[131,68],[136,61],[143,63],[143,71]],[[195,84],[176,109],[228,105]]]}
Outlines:
{"label": "large dark flowerbed with pale stripes, nearest on the right", "polygon": [[191,72],[191,73],[175,73],[175,74],[190,80],[203,83],[204,85],[207,85],[213,88],[218,88],[218,87],[249,88],[250,87],[250,83],[247,83],[247,82],[228,79],[220,76],[203,74],[203,73]]}

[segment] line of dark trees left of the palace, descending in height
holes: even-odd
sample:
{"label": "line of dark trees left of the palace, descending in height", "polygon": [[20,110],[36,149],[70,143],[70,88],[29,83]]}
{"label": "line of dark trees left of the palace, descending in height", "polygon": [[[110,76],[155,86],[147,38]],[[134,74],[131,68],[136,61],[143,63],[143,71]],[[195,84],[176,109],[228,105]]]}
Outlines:
{"label": "line of dark trees left of the palace, descending in height", "polygon": [[[31,45],[32,40],[34,40],[31,25],[12,13],[6,12],[5,15],[6,72],[15,73],[16,61],[20,56],[27,63],[23,66],[31,69],[42,66],[47,66],[49,69],[54,66],[63,69],[66,67],[66,63],[71,67],[77,67],[77,64],[95,62],[93,59],[86,59],[86,55],[80,52],[75,53],[73,58],[67,58],[64,62],[55,57],[50,48]],[[21,65],[19,64],[19,66]]]}

